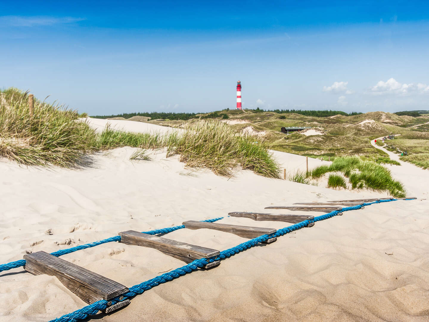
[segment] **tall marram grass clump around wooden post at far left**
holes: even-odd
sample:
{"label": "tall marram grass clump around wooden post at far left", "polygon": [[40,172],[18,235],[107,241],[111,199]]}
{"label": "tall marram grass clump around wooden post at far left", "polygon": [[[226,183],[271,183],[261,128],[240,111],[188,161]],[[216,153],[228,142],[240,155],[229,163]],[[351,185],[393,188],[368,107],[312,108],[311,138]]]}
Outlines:
{"label": "tall marram grass clump around wooden post at far left", "polygon": [[0,155],[24,165],[74,167],[96,148],[97,137],[77,113],[34,100],[30,116],[27,92],[3,91],[0,106]]}

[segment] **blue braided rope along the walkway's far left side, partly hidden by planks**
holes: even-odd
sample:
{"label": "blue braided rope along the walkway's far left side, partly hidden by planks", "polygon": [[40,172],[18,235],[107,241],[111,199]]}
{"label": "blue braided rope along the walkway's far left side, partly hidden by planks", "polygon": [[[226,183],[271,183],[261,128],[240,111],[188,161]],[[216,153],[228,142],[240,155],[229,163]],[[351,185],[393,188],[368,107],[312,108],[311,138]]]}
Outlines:
{"label": "blue braided rope along the walkway's far left side, partly hidden by planks", "polygon": [[[202,220],[202,222],[216,222],[216,221],[221,220],[223,218],[224,217],[206,219],[206,220]],[[171,233],[172,231],[182,229],[182,228],[185,228],[185,226],[180,225],[180,226],[174,226],[174,227],[167,227],[167,228],[155,229],[155,230],[151,230],[151,231],[143,231],[143,233],[149,234],[149,235],[167,234],[167,233]],[[79,245],[79,246],[66,248],[66,249],[60,249],[60,250],[57,250],[56,252],[52,252],[51,255],[54,255],[56,257],[60,257],[62,255],[70,254],[70,253],[76,252],[76,251],[81,250],[81,249],[87,249],[87,248],[95,247],[95,246],[98,246],[101,244],[110,243],[113,241],[120,241],[120,240],[121,240],[121,236],[109,237],[109,238],[106,238],[103,240],[97,240],[93,243],[88,243],[88,244]],[[10,263],[0,265],[0,272],[3,272],[3,270],[11,270],[12,268],[18,268],[18,267],[21,267],[24,265],[25,265],[25,259],[21,259],[19,261],[11,261]]]}

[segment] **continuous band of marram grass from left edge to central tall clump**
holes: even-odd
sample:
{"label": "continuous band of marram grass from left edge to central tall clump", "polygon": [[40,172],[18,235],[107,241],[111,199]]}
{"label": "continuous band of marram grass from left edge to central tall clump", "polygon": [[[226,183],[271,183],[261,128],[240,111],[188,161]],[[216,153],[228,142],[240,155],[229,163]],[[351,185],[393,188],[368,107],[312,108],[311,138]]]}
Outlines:
{"label": "continuous band of marram grass from left edge to central tall clump", "polygon": [[[166,148],[167,155],[180,155],[190,167],[205,167],[231,176],[236,167],[261,176],[279,178],[280,169],[264,142],[239,135],[215,120],[187,123],[181,133],[140,134],[107,127],[96,134],[76,111],[35,99],[33,116],[27,92],[9,88],[7,105],[0,105],[0,156],[24,165],[77,167],[85,155],[122,146],[140,149]],[[138,151],[132,159],[145,159]]]}

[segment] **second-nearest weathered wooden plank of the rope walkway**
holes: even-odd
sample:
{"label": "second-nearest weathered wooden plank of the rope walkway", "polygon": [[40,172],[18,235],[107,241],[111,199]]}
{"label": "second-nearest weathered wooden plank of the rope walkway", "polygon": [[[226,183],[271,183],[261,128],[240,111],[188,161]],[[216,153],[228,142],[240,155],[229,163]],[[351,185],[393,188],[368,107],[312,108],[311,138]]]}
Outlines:
{"label": "second-nearest weathered wooden plank of the rope walkway", "polygon": [[[164,254],[178,258],[187,263],[190,263],[195,259],[208,258],[220,254],[220,252],[216,249],[182,243],[177,240],[167,239],[163,237],[152,236],[140,233],[139,231],[122,231],[121,233],[119,233],[119,236],[121,236],[121,243],[158,249]],[[216,262],[220,264],[220,261],[215,261],[213,263]],[[207,264],[205,266],[213,267],[215,266],[215,264],[213,263]]]}

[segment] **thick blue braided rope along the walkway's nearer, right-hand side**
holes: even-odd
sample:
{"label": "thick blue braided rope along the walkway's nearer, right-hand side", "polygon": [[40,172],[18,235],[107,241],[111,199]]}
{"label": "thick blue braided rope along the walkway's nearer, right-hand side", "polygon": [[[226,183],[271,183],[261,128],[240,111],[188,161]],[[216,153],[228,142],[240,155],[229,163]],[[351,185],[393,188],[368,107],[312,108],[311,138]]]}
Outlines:
{"label": "thick blue braided rope along the walkway's nearer, right-hand side", "polygon": [[[396,200],[397,199],[378,200],[378,201],[373,201],[373,202],[365,203],[365,204],[358,205],[358,206],[345,207],[345,208],[342,208],[341,210],[334,210],[330,213],[326,213],[324,215],[314,217],[314,219],[311,219],[311,220],[304,220],[304,221],[298,222],[294,225],[290,225],[288,227],[281,228],[278,231],[276,231],[274,234],[258,236],[254,239],[248,240],[248,241],[241,243],[237,246],[231,247],[230,249],[224,250],[224,251],[220,252],[220,255],[218,255],[218,256],[215,256],[212,258],[197,259],[197,260],[193,261],[192,263],[189,263],[189,264],[184,265],[182,267],[176,268],[175,270],[172,270],[168,273],[163,273],[162,275],[156,276],[156,277],[149,279],[143,283],[134,285],[134,286],[129,288],[129,291],[127,293],[124,293],[122,295],[122,296],[124,296],[122,301],[124,301],[125,299],[127,299],[129,297],[133,297],[133,296],[142,294],[143,292],[148,291],[155,286],[158,286],[162,283],[166,283],[168,281],[171,281],[172,279],[175,279],[179,276],[185,275],[187,273],[191,273],[192,271],[197,270],[198,268],[204,267],[208,263],[211,263],[213,261],[223,260],[225,258],[229,258],[230,256],[238,254],[239,252],[242,252],[246,249],[249,249],[249,248],[257,245],[258,243],[262,243],[262,242],[264,242],[264,241],[266,241],[272,237],[283,236],[284,234],[290,233],[290,232],[295,231],[297,229],[300,229],[302,227],[306,227],[306,226],[308,226],[308,224],[310,222],[317,222],[320,220],[328,219],[328,218],[331,218],[333,216],[337,216],[339,213],[343,213],[344,211],[357,210],[357,209],[361,209],[364,206],[369,206],[372,204],[380,204],[382,202],[389,202],[389,201],[396,201]],[[205,220],[205,221],[207,221],[207,220]],[[120,301],[119,296],[114,298],[113,300],[110,300],[110,301],[112,301],[112,305],[118,303]],[[90,304],[90,305],[83,307],[82,309],[76,310],[72,313],[63,315],[58,319],[51,320],[50,322],[77,322],[79,320],[87,319],[89,315],[95,315],[98,313],[99,310],[106,309],[107,302],[108,301],[106,301],[106,300],[94,302],[93,304]]]}

